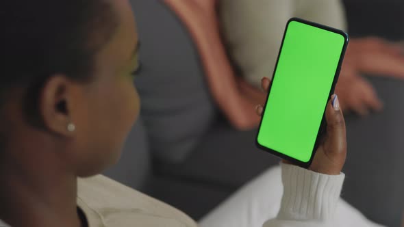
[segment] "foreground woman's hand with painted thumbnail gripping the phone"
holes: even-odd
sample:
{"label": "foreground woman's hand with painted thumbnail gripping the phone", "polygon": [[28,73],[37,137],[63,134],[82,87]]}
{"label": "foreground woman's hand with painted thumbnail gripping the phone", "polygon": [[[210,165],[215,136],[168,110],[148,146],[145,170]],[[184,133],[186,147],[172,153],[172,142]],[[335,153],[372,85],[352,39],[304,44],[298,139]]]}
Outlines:
{"label": "foreground woman's hand with painted thumbnail gripping the phone", "polygon": [[[262,88],[268,92],[270,80],[262,79]],[[257,114],[262,116],[263,105],[256,107]],[[309,170],[321,174],[340,174],[346,158],[346,129],[345,121],[338,96],[333,94],[325,111],[327,120],[327,133],[324,135],[320,146],[314,155]]]}

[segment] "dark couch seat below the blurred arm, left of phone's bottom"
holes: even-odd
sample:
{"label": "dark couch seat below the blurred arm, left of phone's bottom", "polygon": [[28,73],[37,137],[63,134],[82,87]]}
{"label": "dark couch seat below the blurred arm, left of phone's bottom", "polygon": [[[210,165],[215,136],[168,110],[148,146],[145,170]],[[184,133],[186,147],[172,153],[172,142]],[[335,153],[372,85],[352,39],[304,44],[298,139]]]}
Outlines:
{"label": "dark couch seat below the blurred arm, left of phone's bottom", "polygon": [[255,146],[256,130],[236,131],[217,122],[182,163],[159,163],[157,174],[235,191],[280,161]]}

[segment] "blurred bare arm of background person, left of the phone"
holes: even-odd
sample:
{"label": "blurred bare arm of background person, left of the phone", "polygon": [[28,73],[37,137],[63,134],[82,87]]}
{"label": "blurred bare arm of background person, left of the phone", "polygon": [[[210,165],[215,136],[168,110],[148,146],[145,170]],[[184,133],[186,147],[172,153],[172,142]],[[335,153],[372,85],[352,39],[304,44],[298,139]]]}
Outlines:
{"label": "blurred bare arm of background person, left of the phone", "polygon": [[[220,37],[216,14],[217,0],[164,0],[181,18],[197,45],[210,94],[218,109],[231,126],[240,131],[256,129],[260,117],[255,114],[257,101],[252,101],[250,91],[243,93],[236,73],[231,67],[225,46]],[[252,92],[256,95],[258,92]],[[254,96],[255,97],[255,96]]]}

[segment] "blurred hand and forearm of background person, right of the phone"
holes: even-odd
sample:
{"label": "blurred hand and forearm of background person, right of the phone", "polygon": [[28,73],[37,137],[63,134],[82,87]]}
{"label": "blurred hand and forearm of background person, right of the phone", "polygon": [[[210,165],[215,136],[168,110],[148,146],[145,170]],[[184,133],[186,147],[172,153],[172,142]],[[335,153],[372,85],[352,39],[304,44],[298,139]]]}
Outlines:
{"label": "blurred hand and forearm of background person, right of the phone", "polygon": [[381,38],[351,39],[336,86],[341,108],[361,116],[383,109],[375,88],[362,75],[404,79],[403,53],[403,45]]}

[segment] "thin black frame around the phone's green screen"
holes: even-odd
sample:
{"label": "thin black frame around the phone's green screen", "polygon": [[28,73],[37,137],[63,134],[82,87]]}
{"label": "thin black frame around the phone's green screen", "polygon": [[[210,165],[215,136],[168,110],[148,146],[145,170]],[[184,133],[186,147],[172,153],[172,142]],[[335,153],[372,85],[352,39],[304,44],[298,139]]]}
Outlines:
{"label": "thin black frame around the phone's green screen", "polygon": [[[288,21],[288,23],[286,24],[286,28],[285,28],[285,31],[284,31],[284,33],[283,33],[283,38],[282,38],[281,46],[280,46],[280,49],[279,49],[279,53],[278,53],[278,57],[277,57],[277,62],[276,62],[276,64],[275,64],[275,69],[274,69],[274,71],[273,71],[273,79],[275,78],[275,72],[276,72],[276,70],[277,70],[277,66],[278,66],[278,62],[279,62],[279,56],[281,55],[281,51],[282,51],[282,48],[283,48],[283,42],[285,41],[285,37],[286,37],[286,33],[287,33],[287,31],[288,31],[289,24],[290,24],[292,21],[296,21],[296,22],[299,22],[299,23],[303,23],[303,24],[306,24],[306,25],[313,26],[313,27],[318,27],[318,28],[320,28],[320,29],[324,29],[324,30],[331,31],[331,32],[336,33],[336,34],[340,34],[341,36],[344,37],[344,46],[343,46],[343,48],[342,48],[342,52],[341,52],[341,55],[340,55],[340,60],[339,60],[339,62],[338,62],[338,67],[337,67],[336,73],[335,73],[334,78],[333,78],[333,83],[332,83],[332,85],[331,85],[331,90],[330,90],[330,92],[329,92],[329,97],[331,97],[331,95],[334,93],[334,90],[335,90],[335,87],[336,87],[336,83],[337,83],[338,78],[339,78],[339,75],[340,75],[340,70],[341,70],[342,62],[344,61],[344,55],[345,55],[345,53],[346,53],[346,48],[347,48],[348,43],[349,43],[349,36],[348,36],[348,34],[346,34],[344,31],[342,31],[342,30],[340,30],[340,29],[335,29],[335,28],[333,28],[333,27],[328,27],[328,26],[326,26],[326,25],[320,25],[320,24],[318,24],[318,23],[314,23],[314,22],[311,22],[311,21],[306,21],[306,20],[303,20],[303,19],[301,19],[301,18],[296,18],[296,17],[290,18],[289,21]],[[277,156],[277,157],[280,157],[281,159],[285,159],[285,160],[287,160],[287,161],[291,161],[291,162],[294,163],[295,165],[299,165],[299,166],[301,166],[301,167],[303,167],[303,168],[307,168],[307,167],[309,167],[310,164],[312,163],[313,158],[314,158],[314,155],[316,155],[316,150],[317,150],[317,148],[318,148],[321,135],[323,135],[323,133],[325,132],[325,127],[326,127],[326,125],[327,125],[327,124],[326,124],[326,121],[325,121],[325,109],[326,109],[326,107],[327,107],[327,104],[326,104],[325,107],[324,107],[323,119],[322,119],[322,121],[321,121],[320,127],[318,128],[317,137],[316,137],[316,142],[314,143],[314,148],[313,148],[313,151],[312,151],[312,155],[311,155],[311,157],[310,157],[310,160],[307,161],[307,162],[303,162],[303,161],[300,161],[299,159],[294,159],[293,157],[290,157],[290,156],[288,156],[288,155],[284,155],[284,154],[282,154],[281,152],[278,152],[278,151],[273,150],[273,149],[271,149],[271,148],[267,148],[266,146],[262,146],[262,145],[258,142],[258,135],[259,135],[259,133],[260,133],[260,129],[261,129],[261,125],[262,125],[262,119],[264,118],[265,109],[266,109],[266,103],[268,103],[268,98],[269,98],[269,96],[270,96],[270,90],[271,90],[271,88],[272,88],[272,83],[270,83],[269,90],[268,90],[268,94],[267,94],[267,96],[266,96],[266,101],[265,101],[265,103],[264,103],[264,111],[262,112],[262,118],[261,118],[261,120],[260,120],[260,126],[258,127],[257,136],[255,137],[255,145],[256,145],[258,148],[260,148],[261,150],[264,150],[264,151],[266,151],[266,152],[269,152],[270,154],[275,155],[275,156]]]}

